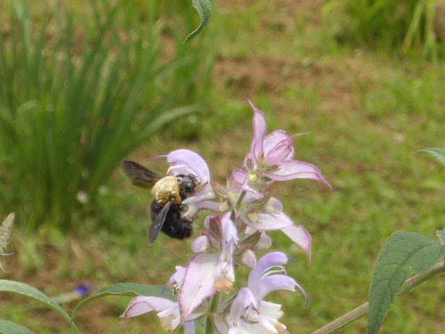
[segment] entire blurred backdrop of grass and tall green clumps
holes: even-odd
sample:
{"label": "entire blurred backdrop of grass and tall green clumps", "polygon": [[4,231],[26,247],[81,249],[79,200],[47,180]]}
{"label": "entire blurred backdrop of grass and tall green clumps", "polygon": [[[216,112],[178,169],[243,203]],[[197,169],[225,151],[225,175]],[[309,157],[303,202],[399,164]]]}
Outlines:
{"label": "entire blurred backdrop of grass and tall green clumps", "polygon": [[[163,284],[190,241],[147,245],[149,192],[120,170],[177,148],[202,154],[224,183],[252,138],[246,98],[268,129],[296,140],[321,168],[274,188],[313,237],[312,263],[279,232],[305,287],[275,293],[291,333],[310,333],[367,299],[373,262],[396,230],[444,228],[444,0],[213,0],[207,29],[191,1],[0,2],[0,214],[17,212],[2,278],[49,296],[79,282]],[[195,226],[202,223],[202,218]],[[197,228],[196,230],[199,230]],[[198,232],[195,232],[197,235]],[[278,246],[277,246],[278,245]],[[245,276],[245,272],[243,273]],[[396,301],[382,333],[444,333],[445,281]],[[70,333],[54,312],[0,296],[4,319]],[[155,315],[118,319],[124,297],[77,317],[85,333],[161,333]],[[72,310],[76,302],[64,307]],[[364,333],[366,319],[341,333]]]}

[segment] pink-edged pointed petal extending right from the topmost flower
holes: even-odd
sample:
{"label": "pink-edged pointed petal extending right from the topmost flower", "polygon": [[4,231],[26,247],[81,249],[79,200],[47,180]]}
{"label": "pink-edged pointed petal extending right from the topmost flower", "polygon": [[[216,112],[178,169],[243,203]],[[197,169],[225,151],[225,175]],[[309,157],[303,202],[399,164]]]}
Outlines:
{"label": "pink-edged pointed petal extending right from the topmost flower", "polygon": [[307,162],[289,160],[283,161],[278,169],[273,173],[264,173],[267,177],[275,181],[286,181],[292,179],[312,179],[325,183],[332,189],[317,166],[308,164]]}

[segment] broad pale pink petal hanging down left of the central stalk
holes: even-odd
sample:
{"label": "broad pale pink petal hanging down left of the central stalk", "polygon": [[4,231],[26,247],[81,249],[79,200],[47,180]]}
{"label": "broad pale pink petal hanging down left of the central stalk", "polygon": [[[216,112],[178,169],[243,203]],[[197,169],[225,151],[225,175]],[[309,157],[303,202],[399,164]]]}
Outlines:
{"label": "broad pale pink petal hanging down left of the central stalk", "polygon": [[179,292],[181,319],[186,319],[201,303],[216,294],[214,271],[218,254],[200,253],[188,263],[186,276]]}

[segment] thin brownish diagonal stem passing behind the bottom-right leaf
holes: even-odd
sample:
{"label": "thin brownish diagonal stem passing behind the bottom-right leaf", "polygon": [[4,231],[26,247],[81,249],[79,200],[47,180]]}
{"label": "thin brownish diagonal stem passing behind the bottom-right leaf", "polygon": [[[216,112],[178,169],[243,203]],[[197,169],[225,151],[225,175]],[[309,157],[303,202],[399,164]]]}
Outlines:
{"label": "thin brownish diagonal stem passing behind the bottom-right leaf", "polygon": [[[399,292],[399,294],[407,292],[413,287],[416,287],[417,285],[425,282],[426,280],[429,280],[430,278],[436,275],[439,275],[439,273],[442,273],[444,271],[445,271],[445,261],[439,262],[438,264],[428,269],[427,271],[419,273],[418,275],[413,276],[412,278],[407,280],[403,285],[403,288],[401,292]],[[342,315],[341,317],[335,319],[334,321],[323,326],[322,328],[319,328],[315,332],[312,332],[311,334],[328,334],[337,331],[337,329],[346,326],[350,322],[358,319],[359,317],[362,317],[362,315],[366,315],[366,313],[368,312],[368,307],[369,303],[366,302],[360,305],[358,308],[355,308],[354,310],[346,313],[346,315]]]}

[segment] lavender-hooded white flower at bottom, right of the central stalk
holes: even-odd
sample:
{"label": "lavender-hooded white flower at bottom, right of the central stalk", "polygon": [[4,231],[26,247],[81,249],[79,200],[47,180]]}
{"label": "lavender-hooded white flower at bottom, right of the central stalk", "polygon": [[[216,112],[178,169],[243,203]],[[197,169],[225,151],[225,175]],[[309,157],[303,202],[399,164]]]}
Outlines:
{"label": "lavender-hooded white flower at bottom, right of the central stalk", "polygon": [[283,265],[288,261],[284,253],[264,255],[250,272],[248,286],[238,292],[227,312],[213,316],[213,325],[220,334],[286,333],[286,326],[278,319],[282,317],[281,305],[263,301],[276,290],[295,291],[296,287],[306,296],[296,280],[285,273]]}

